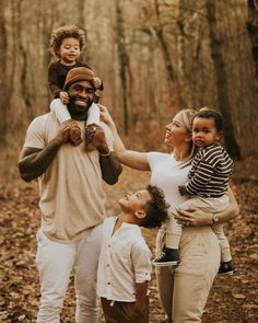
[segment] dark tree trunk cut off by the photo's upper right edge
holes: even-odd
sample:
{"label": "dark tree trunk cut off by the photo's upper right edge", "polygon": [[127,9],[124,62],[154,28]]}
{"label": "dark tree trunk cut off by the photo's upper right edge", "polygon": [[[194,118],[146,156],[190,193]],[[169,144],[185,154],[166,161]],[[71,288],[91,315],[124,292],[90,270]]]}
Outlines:
{"label": "dark tree trunk cut off by the photo's upper right edge", "polygon": [[251,43],[251,53],[256,70],[256,89],[258,90],[258,1],[248,0],[247,8],[248,20],[246,22],[246,27]]}

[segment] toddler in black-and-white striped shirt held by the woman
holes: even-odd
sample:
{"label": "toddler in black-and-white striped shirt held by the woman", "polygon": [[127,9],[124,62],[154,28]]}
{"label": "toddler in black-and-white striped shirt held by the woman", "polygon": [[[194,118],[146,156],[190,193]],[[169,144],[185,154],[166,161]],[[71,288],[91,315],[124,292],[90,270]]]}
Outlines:
{"label": "toddler in black-and-white striped shirt held by the woman", "polygon": [[[219,274],[233,274],[234,267],[228,241],[223,224],[218,223],[216,212],[228,205],[226,195],[228,178],[233,172],[233,161],[225,149],[219,143],[222,138],[223,119],[219,112],[201,108],[192,120],[192,141],[199,147],[191,163],[188,182],[179,186],[181,195],[190,195],[179,209],[200,208],[213,212],[212,229],[221,246],[221,266]],[[176,214],[176,210],[175,210]],[[188,223],[189,226],[189,223]],[[179,263],[178,245],[181,226],[169,218],[166,231],[166,246],[162,255],[154,261],[156,266],[176,265]]]}

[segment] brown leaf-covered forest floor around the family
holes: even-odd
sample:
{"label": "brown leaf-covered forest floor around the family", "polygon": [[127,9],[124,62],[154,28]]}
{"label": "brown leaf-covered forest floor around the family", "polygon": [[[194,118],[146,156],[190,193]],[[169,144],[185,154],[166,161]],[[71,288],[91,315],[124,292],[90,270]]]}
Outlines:
{"label": "brown leaf-covered forest floor around the family", "polygon": [[[117,200],[128,191],[144,187],[149,174],[124,170],[118,184],[105,185],[108,214],[118,211]],[[237,272],[218,277],[203,314],[203,322],[258,322],[257,228],[258,175],[254,160],[236,163],[232,187],[241,216],[225,226]],[[35,233],[39,226],[37,183],[13,181],[0,186],[0,322],[35,322],[39,287],[34,263]],[[144,230],[152,251],[156,231]],[[62,311],[62,322],[74,322],[73,277]],[[150,286],[150,322],[161,322],[155,277]],[[104,322],[103,319],[101,322]]]}

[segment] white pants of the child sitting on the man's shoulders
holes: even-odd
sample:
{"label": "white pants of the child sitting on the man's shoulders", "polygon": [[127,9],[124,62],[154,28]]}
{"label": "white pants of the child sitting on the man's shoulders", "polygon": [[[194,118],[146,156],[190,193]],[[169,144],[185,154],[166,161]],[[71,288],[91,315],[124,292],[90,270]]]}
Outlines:
{"label": "white pants of the child sitting on the man's shoulders", "polygon": [[[60,99],[54,99],[51,101],[50,111],[55,113],[60,124],[71,119],[67,105],[62,104]],[[99,125],[99,108],[95,103],[92,103],[87,112],[86,126],[91,124]]]}

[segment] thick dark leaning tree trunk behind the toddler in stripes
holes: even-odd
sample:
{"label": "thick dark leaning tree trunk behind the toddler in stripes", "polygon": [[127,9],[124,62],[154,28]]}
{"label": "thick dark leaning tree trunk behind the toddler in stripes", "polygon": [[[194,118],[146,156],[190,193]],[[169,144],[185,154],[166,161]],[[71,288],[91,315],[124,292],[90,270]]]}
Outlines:
{"label": "thick dark leaning tree trunk behind the toddler in stripes", "polygon": [[232,158],[239,160],[241,150],[234,136],[232,122],[232,106],[227,93],[227,77],[222,54],[222,44],[216,26],[215,4],[213,0],[206,0],[207,19],[210,33],[211,58],[215,73],[215,84],[218,93],[218,105],[225,119],[225,146]]}

